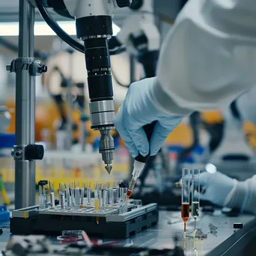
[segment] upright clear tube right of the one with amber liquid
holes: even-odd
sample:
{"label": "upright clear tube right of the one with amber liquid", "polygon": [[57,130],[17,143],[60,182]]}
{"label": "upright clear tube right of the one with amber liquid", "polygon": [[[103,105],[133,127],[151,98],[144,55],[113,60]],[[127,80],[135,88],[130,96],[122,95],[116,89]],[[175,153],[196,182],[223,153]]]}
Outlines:
{"label": "upright clear tube right of the one with amber liquid", "polygon": [[192,209],[191,215],[195,219],[195,230],[196,230],[196,220],[199,216],[200,207],[200,169],[192,169]]}

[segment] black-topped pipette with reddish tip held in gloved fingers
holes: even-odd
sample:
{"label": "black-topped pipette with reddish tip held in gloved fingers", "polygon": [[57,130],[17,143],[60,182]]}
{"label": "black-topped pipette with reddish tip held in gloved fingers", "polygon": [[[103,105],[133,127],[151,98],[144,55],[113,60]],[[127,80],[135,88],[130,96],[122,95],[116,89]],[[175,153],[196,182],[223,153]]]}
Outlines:
{"label": "black-topped pipette with reddish tip held in gloved fingers", "polygon": [[[156,121],[154,121],[152,124],[147,124],[143,127],[144,132],[147,135],[147,140],[150,142],[151,135],[153,134],[153,129],[155,128]],[[132,191],[134,189],[135,183],[138,179],[138,177],[141,174],[141,171],[144,168],[144,165],[147,162],[147,159],[150,157],[150,153],[147,154],[147,156],[142,156],[141,153],[138,153],[138,156],[135,157],[134,164],[133,164],[133,171],[132,171],[132,180],[129,183],[129,189],[127,191],[127,198],[129,199],[132,195]]]}

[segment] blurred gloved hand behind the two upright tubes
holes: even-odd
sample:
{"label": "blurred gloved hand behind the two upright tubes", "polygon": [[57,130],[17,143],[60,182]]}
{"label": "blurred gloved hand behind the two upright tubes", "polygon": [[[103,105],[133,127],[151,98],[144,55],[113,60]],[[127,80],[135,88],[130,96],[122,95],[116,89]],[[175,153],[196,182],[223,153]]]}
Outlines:
{"label": "blurred gloved hand behind the two upright tubes", "polygon": [[203,187],[203,192],[200,194],[200,199],[211,201],[213,204],[225,206],[225,200],[228,194],[236,185],[237,180],[228,177],[225,174],[217,171],[215,174],[210,174],[204,171],[200,174],[200,186]]}

